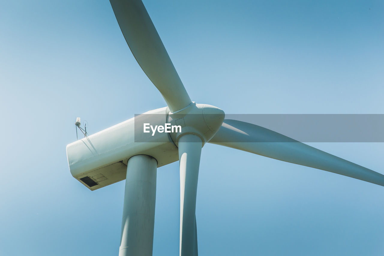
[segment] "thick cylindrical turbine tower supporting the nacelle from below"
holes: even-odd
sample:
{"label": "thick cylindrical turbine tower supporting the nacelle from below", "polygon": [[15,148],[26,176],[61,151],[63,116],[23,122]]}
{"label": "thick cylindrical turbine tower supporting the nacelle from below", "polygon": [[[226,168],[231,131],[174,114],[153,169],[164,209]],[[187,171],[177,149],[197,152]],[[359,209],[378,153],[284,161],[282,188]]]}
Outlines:
{"label": "thick cylindrical turbine tower supporting the nacelle from below", "polygon": [[128,160],[119,256],[152,256],[156,165],[146,155]]}

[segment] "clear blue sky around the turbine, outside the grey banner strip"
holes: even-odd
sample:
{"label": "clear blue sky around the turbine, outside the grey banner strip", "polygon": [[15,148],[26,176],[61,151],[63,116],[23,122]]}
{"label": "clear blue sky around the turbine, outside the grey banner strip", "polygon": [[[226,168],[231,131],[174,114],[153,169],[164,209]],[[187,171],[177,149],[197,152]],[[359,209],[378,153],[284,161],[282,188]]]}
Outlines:
{"label": "clear blue sky around the turbine, outside the grey banner strip", "polygon": [[[226,113],[384,113],[384,3],[145,0],[197,103]],[[0,3],[0,255],[117,255],[124,181],[89,191],[65,146],[165,106],[108,0]],[[384,173],[383,143],[311,143]],[[384,255],[384,188],[216,145],[199,254]],[[178,163],[158,169],[154,256],[178,255]]]}

